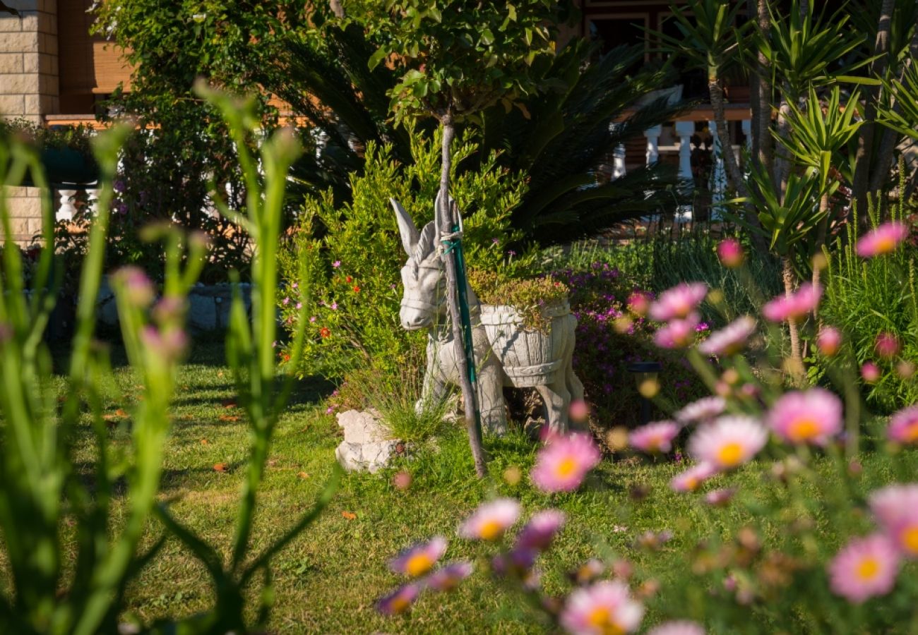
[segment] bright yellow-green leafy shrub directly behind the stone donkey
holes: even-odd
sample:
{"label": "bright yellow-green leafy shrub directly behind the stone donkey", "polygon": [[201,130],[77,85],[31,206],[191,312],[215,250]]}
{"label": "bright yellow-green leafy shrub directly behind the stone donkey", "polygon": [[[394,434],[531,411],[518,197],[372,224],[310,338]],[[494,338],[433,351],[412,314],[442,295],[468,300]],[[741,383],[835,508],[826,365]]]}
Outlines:
{"label": "bright yellow-green leafy shrub directly behind the stone donkey", "polygon": [[[280,254],[288,281],[280,310],[288,329],[296,329],[300,314],[291,299],[298,295],[293,284],[300,269],[314,282],[313,294],[302,307],[309,322],[297,373],[341,377],[367,365],[394,373],[412,348],[422,346],[426,334],[407,333],[398,322],[398,273],[407,256],[389,197],[405,207],[419,228],[431,220],[439,187],[438,144],[439,139],[415,136],[414,162],[409,165],[393,160],[388,146],[370,144],[364,173],[351,176],[351,203],[336,207],[330,191],[307,199]],[[471,136],[463,136],[453,148],[453,166],[476,150]],[[519,238],[509,228],[509,215],[525,184],[521,174],[498,168],[497,158],[491,153],[480,169],[454,175],[452,195],[464,213],[466,261],[476,268],[513,273],[532,262],[532,253],[504,251]]]}

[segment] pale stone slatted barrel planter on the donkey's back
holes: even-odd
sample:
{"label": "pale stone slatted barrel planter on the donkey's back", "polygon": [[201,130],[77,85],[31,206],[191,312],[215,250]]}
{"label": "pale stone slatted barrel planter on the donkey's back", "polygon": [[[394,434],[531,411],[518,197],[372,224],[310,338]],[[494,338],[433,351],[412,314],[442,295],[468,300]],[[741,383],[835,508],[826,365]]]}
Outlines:
{"label": "pale stone slatted barrel planter on the donkey's back", "polygon": [[542,315],[551,319],[547,332],[523,329],[522,317],[513,306],[481,306],[481,324],[491,349],[518,388],[552,384],[564,372],[564,352],[573,333],[564,322],[576,318],[566,300],[545,306]]}

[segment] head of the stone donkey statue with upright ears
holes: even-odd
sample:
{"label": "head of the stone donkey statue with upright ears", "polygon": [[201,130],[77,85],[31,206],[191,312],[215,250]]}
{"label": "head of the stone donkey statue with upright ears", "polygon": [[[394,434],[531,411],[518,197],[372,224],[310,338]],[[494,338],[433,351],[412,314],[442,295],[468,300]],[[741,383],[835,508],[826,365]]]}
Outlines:
{"label": "head of the stone donkey statue with upright ears", "polygon": [[445,307],[443,268],[437,251],[437,224],[431,221],[418,231],[405,208],[394,198],[390,198],[389,202],[396,211],[398,233],[408,254],[408,261],[401,270],[405,295],[402,295],[398,317],[403,329],[424,329],[443,314]]}

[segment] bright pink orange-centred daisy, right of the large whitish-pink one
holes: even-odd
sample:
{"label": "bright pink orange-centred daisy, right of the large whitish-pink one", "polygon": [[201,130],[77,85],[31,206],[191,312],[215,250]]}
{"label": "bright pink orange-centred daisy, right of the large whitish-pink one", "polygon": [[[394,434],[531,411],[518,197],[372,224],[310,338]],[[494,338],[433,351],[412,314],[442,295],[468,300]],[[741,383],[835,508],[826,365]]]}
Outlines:
{"label": "bright pink orange-centred daisy, right of the large whitish-pink one", "polygon": [[824,388],[785,393],[767,415],[768,427],[789,443],[825,445],[842,430],[842,400]]}

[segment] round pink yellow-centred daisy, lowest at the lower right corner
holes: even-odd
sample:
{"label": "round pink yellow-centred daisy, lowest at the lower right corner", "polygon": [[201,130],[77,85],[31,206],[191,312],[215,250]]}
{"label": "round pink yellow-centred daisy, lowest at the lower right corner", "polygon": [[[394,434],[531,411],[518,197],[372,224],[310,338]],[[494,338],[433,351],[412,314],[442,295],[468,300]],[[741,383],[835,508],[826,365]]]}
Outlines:
{"label": "round pink yellow-centred daisy, lowest at the lower right corner", "polygon": [[886,536],[876,533],[857,538],[829,563],[829,585],[836,596],[861,604],[892,590],[899,563],[899,552]]}

